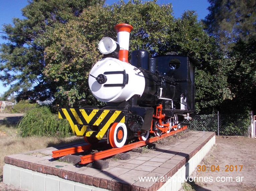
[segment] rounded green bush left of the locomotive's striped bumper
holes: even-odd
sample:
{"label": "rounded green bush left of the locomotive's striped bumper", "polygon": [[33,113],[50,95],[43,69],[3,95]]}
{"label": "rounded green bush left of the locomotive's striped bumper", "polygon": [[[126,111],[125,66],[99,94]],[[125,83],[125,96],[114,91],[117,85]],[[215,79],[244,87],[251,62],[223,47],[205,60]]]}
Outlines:
{"label": "rounded green bush left of the locomotive's striped bumper", "polygon": [[29,110],[18,124],[19,134],[27,136],[69,136],[71,127],[68,120],[58,119],[46,106]]}

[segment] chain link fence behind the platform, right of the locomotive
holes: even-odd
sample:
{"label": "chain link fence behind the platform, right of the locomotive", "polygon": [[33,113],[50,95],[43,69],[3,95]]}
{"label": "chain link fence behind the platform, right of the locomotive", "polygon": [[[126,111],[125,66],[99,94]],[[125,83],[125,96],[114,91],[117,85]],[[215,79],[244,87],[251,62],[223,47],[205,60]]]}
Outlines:
{"label": "chain link fence behind the platform, right of the locomotive", "polygon": [[250,115],[196,115],[192,117],[190,130],[214,131],[216,135],[226,136],[247,136],[248,127],[250,127]]}

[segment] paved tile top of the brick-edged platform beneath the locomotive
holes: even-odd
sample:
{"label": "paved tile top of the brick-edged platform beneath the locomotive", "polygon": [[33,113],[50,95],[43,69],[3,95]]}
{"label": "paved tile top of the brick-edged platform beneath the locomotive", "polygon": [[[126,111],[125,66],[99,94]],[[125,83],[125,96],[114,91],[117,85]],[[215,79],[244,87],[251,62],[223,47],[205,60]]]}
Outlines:
{"label": "paved tile top of the brick-edged platform beneath the locomotive", "polygon": [[[213,136],[214,132],[203,133],[190,131],[190,136],[184,139],[177,139],[171,145],[159,146],[150,150],[149,153],[138,153],[130,151],[128,160],[109,160],[109,167],[104,170],[90,168],[88,165],[73,165],[53,160],[51,151],[54,147],[38,149],[20,154],[9,155],[4,158],[7,164],[21,168],[37,171],[43,174],[54,175],[63,179],[80,182],[104,189],[121,191],[156,191],[164,184],[163,182],[139,181],[139,177],[161,177],[172,176],[178,169],[193,157]],[[82,145],[84,143],[81,143]],[[74,145],[62,145],[62,148],[73,147]],[[76,145],[79,146],[79,145]],[[11,172],[12,176],[20,176],[20,172]],[[38,176],[40,179],[40,176]],[[58,184],[52,181],[52,185],[58,187],[69,187],[65,182]],[[34,182],[34,179],[33,179]],[[10,181],[13,185],[19,186],[20,182]],[[55,184],[56,183],[56,184]],[[26,185],[28,188],[31,185]],[[45,183],[49,187],[49,182]],[[47,187],[48,186],[48,187]]]}

